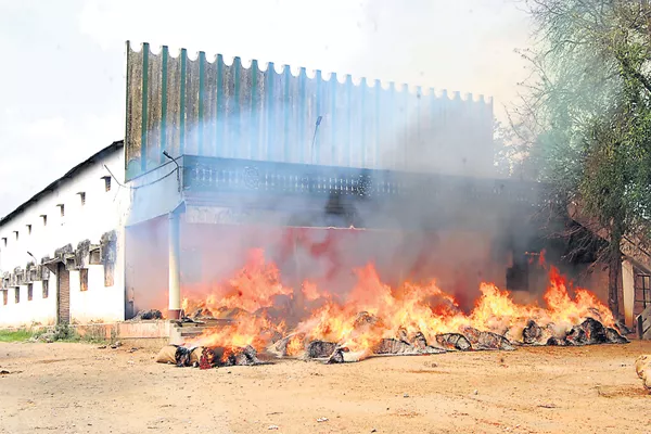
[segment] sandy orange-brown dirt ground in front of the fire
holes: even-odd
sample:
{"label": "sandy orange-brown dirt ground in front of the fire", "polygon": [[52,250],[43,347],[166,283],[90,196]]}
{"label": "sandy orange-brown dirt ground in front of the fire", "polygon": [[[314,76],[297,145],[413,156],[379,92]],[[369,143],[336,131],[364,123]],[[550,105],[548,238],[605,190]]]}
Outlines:
{"label": "sandy orange-brown dirt ground in front of the fire", "polygon": [[651,342],[206,371],[128,349],[0,344],[0,432],[651,433]]}

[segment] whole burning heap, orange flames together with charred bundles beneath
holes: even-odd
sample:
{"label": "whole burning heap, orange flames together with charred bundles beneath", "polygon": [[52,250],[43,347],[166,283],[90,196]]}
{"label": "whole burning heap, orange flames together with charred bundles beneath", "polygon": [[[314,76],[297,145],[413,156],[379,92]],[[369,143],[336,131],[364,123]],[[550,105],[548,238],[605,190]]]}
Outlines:
{"label": "whole burning heap, orange flames together with charred bundles beneath", "polygon": [[519,305],[507,291],[483,283],[469,314],[434,282],[392,288],[372,265],[356,273],[358,282],[346,295],[304,282],[301,296],[294,296],[276,266],[254,251],[246,266],[207,297],[183,301],[183,311],[192,312],[189,320],[226,321],[206,327],[190,347],[175,348],[171,362],[202,369],[259,365],[264,353],[342,363],[374,356],[628,342],[610,310],[554,268],[546,307]]}

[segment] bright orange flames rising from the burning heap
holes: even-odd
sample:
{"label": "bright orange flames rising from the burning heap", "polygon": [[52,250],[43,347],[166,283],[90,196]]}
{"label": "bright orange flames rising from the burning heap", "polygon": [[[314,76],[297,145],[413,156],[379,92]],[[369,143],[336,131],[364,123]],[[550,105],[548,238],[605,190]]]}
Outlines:
{"label": "bright orange flames rising from the burning heap", "polygon": [[[544,254],[539,264],[544,264]],[[614,324],[612,312],[595,294],[574,289],[553,267],[549,268],[545,306],[520,305],[509,292],[482,283],[481,296],[470,312],[463,312],[436,281],[406,281],[392,288],[382,282],[373,264],[355,273],[357,283],[345,296],[306,281],[299,289],[302,297],[294,298],[293,289],[280,282],[276,265],[265,260],[261,250],[253,250],[245,266],[227,282],[212,286],[208,296],[183,301],[187,312],[202,308],[233,320],[204,332],[193,344],[227,349],[251,345],[263,350],[286,336],[286,354],[299,355],[306,343],[315,340],[335,342],[350,352],[369,352],[385,337],[422,333],[427,342],[435,342],[437,334],[469,327],[498,334],[522,333],[529,319],[540,327],[553,324],[559,329],[570,329],[586,318],[596,318],[607,327]],[[193,290],[199,292],[184,291]],[[286,296],[291,303],[280,315],[271,316],[273,308],[279,311],[277,296]]]}

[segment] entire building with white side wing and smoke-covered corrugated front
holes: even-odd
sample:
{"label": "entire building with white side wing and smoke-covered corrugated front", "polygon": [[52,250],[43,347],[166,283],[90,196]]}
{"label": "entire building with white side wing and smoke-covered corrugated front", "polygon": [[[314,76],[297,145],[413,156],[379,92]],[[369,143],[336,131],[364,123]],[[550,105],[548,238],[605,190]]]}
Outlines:
{"label": "entire building with white side wing and smoke-covered corrugated front", "polygon": [[0,221],[0,326],[122,321],[150,308],[178,318],[184,296],[241,267],[251,247],[293,285],[340,285],[373,260],[386,281],[435,276],[460,298],[484,280],[535,293],[546,281],[527,254],[545,248],[608,299],[608,272],[589,254],[563,264],[572,246],[550,242],[536,219],[550,204],[541,186],[495,178],[483,97],[145,43],[127,44],[126,106],[124,146]]}

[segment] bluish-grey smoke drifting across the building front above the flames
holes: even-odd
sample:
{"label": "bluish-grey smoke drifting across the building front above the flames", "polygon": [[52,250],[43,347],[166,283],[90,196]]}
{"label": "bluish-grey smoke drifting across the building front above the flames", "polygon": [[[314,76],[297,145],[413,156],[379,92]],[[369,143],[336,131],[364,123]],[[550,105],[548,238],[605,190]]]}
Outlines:
{"label": "bluish-grey smoke drifting across the building front above the flames", "polygon": [[[356,279],[353,270],[369,261],[376,265],[383,281],[394,285],[405,280],[435,279],[465,310],[477,297],[481,282],[508,286],[507,270],[516,268],[526,260],[525,252],[540,250],[544,243],[539,242],[540,228],[532,218],[535,209],[531,204],[502,200],[521,186],[495,180],[493,112],[487,110],[492,102],[456,93],[437,98],[429,90],[397,88],[394,99],[386,101],[393,104],[395,116],[369,129],[373,123],[365,120],[376,116],[375,105],[368,100],[362,104],[362,99],[372,90],[353,93],[343,105],[339,95],[336,101],[304,107],[292,101],[271,101],[270,111],[263,92],[258,105],[237,106],[231,100],[224,116],[209,116],[213,120],[204,124],[187,120],[190,129],[184,154],[244,158],[252,161],[251,166],[255,161],[267,165],[277,162],[279,170],[283,163],[307,163],[302,170],[322,170],[326,179],[343,171],[360,179],[369,175],[367,169],[388,169],[397,181],[392,188],[408,188],[412,193],[298,197],[259,188],[208,200],[187,197],[190,207],[216,201],[207,214],[239,215],[233,222],[240,225],[191,222],[187,212],[181,225],[182,286],[203,285],[209,292],[239,270],[246,252],[254,247],[265,251],[267,259],[278,265],[282,283],[294,290],[309,280],[345,295]],[[248,100],[250,91],[241,89],[242,101]],[[349,120],[347,108],[354,113]],[[280,127],[269,130],[263,127],[267,125]],[[152,133],[155,138],[159,131]],[[157,162],[156,146],[149,150],[149,159]],[[168,151],[181,153],[178,149]],[[431,179],[423,181],[414,177],[417,173],[429,174]],[[148,207],[148,202],[159,202],[161,195],[168,193],[151,194],[141,189],[135,196],[139,202],[136,206]],[[359,230],[341,229],[352,225]],[[138,247],[133,248],[137,252]],[[166,291],[166,248],[148,248],[148,255],[130,254],[130,260],[155,263],[152,267],[159,283],[149,288]],[[145,276],[154,272],[142,270],[146,270]],[[535,291],[539,291],[537,286]]]}

